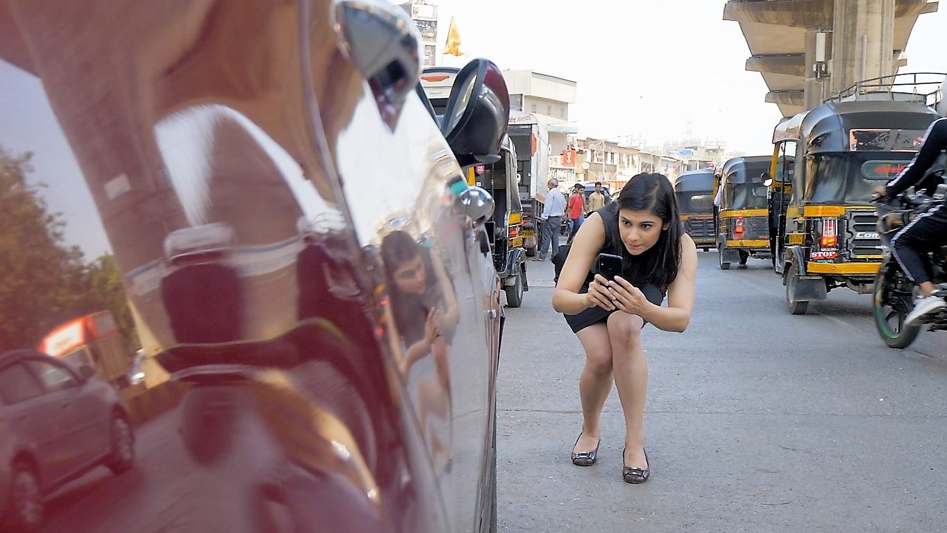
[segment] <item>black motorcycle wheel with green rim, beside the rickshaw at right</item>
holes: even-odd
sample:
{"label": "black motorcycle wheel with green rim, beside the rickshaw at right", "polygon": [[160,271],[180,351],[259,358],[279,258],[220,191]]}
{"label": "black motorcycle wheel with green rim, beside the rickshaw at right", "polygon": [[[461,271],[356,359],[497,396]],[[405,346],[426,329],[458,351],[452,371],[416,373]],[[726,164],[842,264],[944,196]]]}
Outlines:
{"label": "black motorcycle wheel with green rim, beside the rickshaw at right", "polygon": [[904,326],[904,318],[911,311],[911,282],[898,268],[884,269],[875,278],[875,293],[871,300],[875,327],[888,347],[903,349],[918,338],[920,326]]}

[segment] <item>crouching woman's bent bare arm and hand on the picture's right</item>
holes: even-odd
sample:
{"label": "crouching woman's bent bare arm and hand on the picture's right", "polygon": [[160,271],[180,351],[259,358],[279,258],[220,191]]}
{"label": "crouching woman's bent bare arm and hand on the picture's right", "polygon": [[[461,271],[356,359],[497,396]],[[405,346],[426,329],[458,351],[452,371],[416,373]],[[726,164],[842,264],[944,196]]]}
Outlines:
{"label": "crouching woman's bent bare arm and hand on the picture's right", "polygon": [[[581,228],[580,228],[581,230]],[[681,268],[668,288],[668,307],[652,304],[627,280],[616,277],[612,281],[612,292],[620,311],[636,314],[665,331],[688,329],[690,313],[694,307],[694,279],[697,275],[697,247],[694,240],[685,234],[681,238]]]}

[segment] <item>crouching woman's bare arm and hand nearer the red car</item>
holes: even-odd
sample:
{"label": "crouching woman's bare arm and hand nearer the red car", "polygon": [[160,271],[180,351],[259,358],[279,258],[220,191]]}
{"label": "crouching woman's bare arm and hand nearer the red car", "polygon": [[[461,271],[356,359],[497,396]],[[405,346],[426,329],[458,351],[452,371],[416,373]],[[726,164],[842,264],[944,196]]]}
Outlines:
{"label": "crouching woman's bare arm and hand nearer the red car", "polygon": [[553,309],[565,314],[577,314],[597,305],[609,311],[615,309],[608,299],[606,289],[601,285],[601,276],[597,276],[597,281],[589,286],[588,293],[579,293],[604,244],[605,226],[599,214],[593,213],[579,226],[579,232],[572,240],[569,256],[559,274],[556,292],[552,293]]}

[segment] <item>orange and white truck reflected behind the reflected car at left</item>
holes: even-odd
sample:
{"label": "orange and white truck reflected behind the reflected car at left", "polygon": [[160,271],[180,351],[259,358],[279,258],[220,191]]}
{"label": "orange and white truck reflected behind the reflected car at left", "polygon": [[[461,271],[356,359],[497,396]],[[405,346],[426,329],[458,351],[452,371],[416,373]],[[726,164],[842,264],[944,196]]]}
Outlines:
{"label": "orange and white truck reflected behind the reflected car at left", "polygon": [[73,367],[91,366],[94,377],[116,388],[128,386],[133,353],[118,330],[112,311],[98,311],[52,329],[38,349]]}

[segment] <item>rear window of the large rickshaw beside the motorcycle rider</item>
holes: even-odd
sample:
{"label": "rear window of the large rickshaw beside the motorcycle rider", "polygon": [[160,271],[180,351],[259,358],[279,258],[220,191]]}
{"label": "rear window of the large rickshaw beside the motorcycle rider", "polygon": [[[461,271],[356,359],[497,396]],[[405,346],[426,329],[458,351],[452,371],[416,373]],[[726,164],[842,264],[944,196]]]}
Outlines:
{"label": "rear window of the large rickshaw beside the motorcycle rider", "polygon": [[847,151],[806,156],[806,197],[813,204],[866,203],[871,189],[897,176],[910,151]]}

